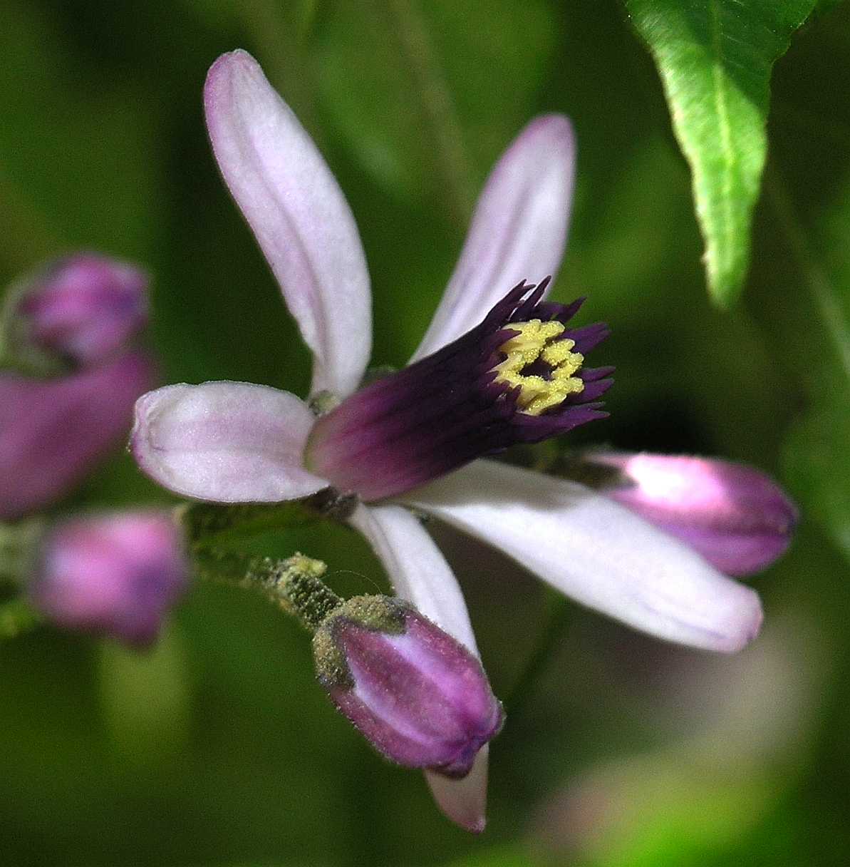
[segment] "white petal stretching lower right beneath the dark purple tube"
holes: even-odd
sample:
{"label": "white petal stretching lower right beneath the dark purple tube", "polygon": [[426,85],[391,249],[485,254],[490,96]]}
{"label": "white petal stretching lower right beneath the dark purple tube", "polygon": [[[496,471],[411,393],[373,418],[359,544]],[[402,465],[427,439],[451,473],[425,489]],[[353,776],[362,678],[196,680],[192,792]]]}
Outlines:
{"label": "white petal stretching lower right beneath the dark purple tube", "polygon": [[730,653],[761,625],[752,590],[574,482],[479,460],[406,499],[578,602],[668,641]]}

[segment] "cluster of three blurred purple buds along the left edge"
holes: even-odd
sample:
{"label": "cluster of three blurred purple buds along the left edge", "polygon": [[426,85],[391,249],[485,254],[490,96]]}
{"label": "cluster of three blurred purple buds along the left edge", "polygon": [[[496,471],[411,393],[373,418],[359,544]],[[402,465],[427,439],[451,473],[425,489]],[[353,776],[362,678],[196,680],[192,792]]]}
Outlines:
{"label": "cluster of three blurred purple buds along the left edge", "polygon": [[37,516],[120,445],[154,384],[152,358],[135,346],[146,290],[133,265],[81,253],[13,285],[0,319],[0,527],[24,551],[13,577],[54,623],[136,647],[185,589],[171,516]]}

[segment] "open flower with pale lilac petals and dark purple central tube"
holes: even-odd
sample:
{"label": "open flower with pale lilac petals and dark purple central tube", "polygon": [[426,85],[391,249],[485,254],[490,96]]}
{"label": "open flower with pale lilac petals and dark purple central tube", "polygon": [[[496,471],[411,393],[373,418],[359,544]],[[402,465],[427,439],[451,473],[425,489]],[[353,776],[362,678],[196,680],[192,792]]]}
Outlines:
{"label": "open flower with pale lilac petals and dark purple central tube", "polygon": [[[457,581],[405,505],[656,636],[734,651],[756,635],[756,594],[686,544],[587,487],[477,460],[600,417],[609,384],[608,370],[584,366],[605,327],[568,329],[578,304],[545,300],[573,187],[565,118],[532,121],[490,174],[411,366],[355,393],[371,351],[370,294],[341,190],[250,55],[217,60],[204,106],[224,180],[313,352],[311,406],[335,408],[317,418],[293,394],[246,383],[160,388],[137,404],[132,447],[146,473],[229,503],[354,492],[348,521],[399,596],[473,651]],[[483,828],[485,763],[483,749],[465,779],[429,777],[444,812],[470,830]]]}

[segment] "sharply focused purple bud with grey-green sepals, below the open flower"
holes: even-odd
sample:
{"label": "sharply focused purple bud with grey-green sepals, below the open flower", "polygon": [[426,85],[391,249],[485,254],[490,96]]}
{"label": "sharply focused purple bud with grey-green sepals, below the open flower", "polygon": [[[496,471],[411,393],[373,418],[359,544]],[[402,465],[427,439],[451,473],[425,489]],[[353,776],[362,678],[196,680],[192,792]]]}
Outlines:
{"label": "sharply focused purple bud with grey-green sepals, below the open flower", "polygon": [[316,630],[313,647],[336,707],[399,765],[464,777],[502,727],[477,658],[399,599],[349,599]]}

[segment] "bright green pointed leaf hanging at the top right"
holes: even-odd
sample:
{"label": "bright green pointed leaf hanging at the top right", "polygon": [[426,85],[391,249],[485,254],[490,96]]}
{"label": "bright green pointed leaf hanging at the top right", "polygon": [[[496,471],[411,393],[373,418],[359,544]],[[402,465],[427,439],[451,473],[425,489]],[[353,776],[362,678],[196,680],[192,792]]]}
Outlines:
{"label": "bright green pointed leaf hanging at the top right", "polygon": [[691,165],[710,296],[730,308],[749,266],[770,70],[814,0],[626,0],[626,8],[659,68]]}

